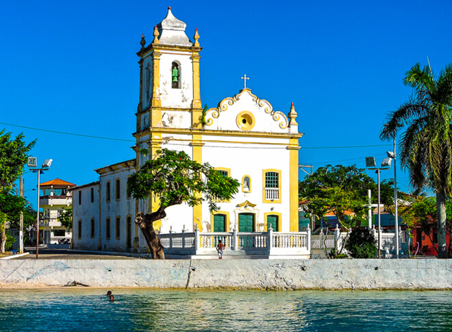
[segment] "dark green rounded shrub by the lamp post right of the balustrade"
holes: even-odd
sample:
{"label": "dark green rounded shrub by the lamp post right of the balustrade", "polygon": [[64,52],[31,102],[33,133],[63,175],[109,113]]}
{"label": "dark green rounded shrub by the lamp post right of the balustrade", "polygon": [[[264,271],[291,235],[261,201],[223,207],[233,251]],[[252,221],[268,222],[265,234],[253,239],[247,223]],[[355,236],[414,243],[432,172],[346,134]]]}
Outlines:
{"label": "dark green rounded shrub by the lamp post right of the balustrade", "polygon": [[375,258],[378,253],[375,235],[366,228],[353,229],[345,248],[353,258]]}

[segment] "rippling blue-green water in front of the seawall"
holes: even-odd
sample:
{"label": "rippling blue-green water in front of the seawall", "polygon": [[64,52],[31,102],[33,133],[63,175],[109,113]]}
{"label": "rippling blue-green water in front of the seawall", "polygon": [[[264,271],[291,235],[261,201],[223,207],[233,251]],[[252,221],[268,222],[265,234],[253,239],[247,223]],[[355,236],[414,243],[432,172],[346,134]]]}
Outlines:
{"label": "rippling blue-green water in front of the seawall", "polygon": [[452,331],[452,292],[0,290],[0,331]]}

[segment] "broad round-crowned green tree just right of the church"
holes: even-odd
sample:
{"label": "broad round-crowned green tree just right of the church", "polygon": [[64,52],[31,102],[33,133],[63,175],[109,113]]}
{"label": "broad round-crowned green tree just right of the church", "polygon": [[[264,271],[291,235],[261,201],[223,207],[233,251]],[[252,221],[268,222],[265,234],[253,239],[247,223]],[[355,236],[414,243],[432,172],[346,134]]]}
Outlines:
{"label": "broad round-crowned green tree just right of the church", "polygon": [[[353,227],[360,226],[364,220],[368,209],[367,190],[372,188],[375,188],[373,179],[355,165],[320,167],[300,182],[299,193],[310,201],[308,208],[314,210],[314,214],[316,209],[323,215],[327,211],[333,212],[342,226],[342,231],[347,232],[347,237],[336,254],[342,253],[348,240],[348,232]],[[347,212],[353,212],[353,215]]]}

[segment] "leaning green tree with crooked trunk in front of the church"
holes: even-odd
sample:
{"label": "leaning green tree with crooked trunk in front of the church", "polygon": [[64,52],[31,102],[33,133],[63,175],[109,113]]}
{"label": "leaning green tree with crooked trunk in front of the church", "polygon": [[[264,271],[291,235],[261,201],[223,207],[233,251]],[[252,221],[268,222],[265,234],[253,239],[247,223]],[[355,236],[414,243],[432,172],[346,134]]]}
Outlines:
{"label": "leaning green tree with crooked trunk in front of the church", "polygon": [[[149,153],[143,149],[141,153]],[[225,177],[209,164],[193,161],[184,151],[156,151],[138,172],[127,180],[127,190],[134,199],[153,196],[160,204],[149,214],[138,213],[135,222],[140,227],[154,259],[164,259],[163,246],[153,228],[153,222],[165,218],[165,209],[187,203],[190,206],[207,201],[211,211],[217,203],[233,198],[240,183]]]}

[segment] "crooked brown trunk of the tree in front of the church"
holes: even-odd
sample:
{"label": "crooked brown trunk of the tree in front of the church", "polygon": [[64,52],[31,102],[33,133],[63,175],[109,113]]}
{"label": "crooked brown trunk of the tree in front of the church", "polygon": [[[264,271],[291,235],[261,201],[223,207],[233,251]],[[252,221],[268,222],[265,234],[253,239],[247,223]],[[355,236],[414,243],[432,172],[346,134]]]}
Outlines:
{"label": "crooked brown trunk of the tree in front of the church", "polygon": [[142,212],[139,212],[135,218],[135,223],[136,225],[138,225],[138,227],[140,227],[143,235],[145,236],[147,245],[149,246],[149,250],[151,251],[151,257],[153,259],[165,259],[163,246],[160,243],[160,239],[155,233],[153,226],[153,222],[155,220],[160,220],[165,217],[166,213],[163,210],[158,209],[158,211],[151,214],[143,214]]}

